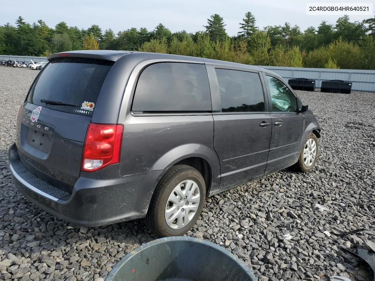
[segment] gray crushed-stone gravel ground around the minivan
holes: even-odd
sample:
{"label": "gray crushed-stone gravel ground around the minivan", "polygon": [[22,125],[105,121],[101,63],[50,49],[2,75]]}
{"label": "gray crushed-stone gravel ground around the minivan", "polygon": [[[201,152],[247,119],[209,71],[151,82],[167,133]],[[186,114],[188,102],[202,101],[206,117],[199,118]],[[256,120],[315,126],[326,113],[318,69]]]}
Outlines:
{"label": "gray crushed-stone gravel ground around the minivan", "polygon": [[[15,191],[7,148],[37,73],[0,67],[0,279],[100,281],[126,253],[156,237],[142,220],[74,229]],[[323,127],[316,168],[307,174],[283,170],[207,199],[188,235],[236,254],[261,281],[336,274],[372,280],[371,269],[340,247],[356,251],[354,244],[375,239],[375,94],[298,94]],[[333,233],[359,228],[366,230]]]}

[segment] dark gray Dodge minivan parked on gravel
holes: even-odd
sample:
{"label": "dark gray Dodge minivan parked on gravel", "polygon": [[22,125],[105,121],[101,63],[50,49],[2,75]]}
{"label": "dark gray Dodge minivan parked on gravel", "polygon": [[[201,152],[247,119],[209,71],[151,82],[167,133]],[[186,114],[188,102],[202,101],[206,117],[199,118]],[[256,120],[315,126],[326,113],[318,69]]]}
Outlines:
{"label": "dark gray Dodge minivan parked on gravel", "polygon": [[9,148],[13,183],[73,226],[188,232],[205,198],[314,167],[320,126],[276,73],[181,55],[52,54]]}

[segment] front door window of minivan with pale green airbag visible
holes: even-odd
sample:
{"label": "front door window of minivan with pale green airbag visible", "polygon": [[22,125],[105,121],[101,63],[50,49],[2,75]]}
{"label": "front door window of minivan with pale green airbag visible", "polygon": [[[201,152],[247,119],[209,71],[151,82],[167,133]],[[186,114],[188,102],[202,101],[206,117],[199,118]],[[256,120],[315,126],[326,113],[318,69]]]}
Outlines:
{"label": "front door window of minivan with pale green airbag visible", "polygon": [[267,82],[270,87],[272,111],[297,112],[297,99],[287,85],[268,75]]}

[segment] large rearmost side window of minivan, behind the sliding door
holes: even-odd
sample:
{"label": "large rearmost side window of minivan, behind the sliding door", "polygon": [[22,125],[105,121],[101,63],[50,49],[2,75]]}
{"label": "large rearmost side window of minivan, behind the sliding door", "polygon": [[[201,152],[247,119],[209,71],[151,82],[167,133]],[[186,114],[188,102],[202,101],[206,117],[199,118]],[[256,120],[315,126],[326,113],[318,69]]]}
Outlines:
{"label": "large rearmost side window of minivan, behind the sliding door", "polygon": [[211,94],[204,64],[156,63],[139,76],[132,111],[207,112]]}

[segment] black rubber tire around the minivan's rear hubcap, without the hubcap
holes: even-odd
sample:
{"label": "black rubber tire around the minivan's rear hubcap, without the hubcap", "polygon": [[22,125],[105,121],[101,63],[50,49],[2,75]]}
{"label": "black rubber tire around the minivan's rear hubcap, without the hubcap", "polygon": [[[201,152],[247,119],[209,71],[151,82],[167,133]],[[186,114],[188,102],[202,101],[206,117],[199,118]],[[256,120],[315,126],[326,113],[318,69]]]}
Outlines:
{"label": "black rubber tire around the minivan's rear hubcap, without the hubcap", "polygon": [[[181,182],[190,179],[196,182],[199,188],[199,205],[192,219],[185,226],[174,229],[168,226],[165,219],[165,209],[168,197],[174,188]],[[183,187],[184,188],[184,187]],[[147,227],[159,237],[181,236],[189,232],[201,215],[206,197],[206,186],[201,173],[187,165],[172,166],[160,180],[156,187],[148,212],[145,217]],[[188,204],[188,202],[187,202]],[[180,208],[178,206],[178,208]],[[182,210],[183,207],[181,207]]]}

